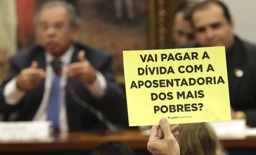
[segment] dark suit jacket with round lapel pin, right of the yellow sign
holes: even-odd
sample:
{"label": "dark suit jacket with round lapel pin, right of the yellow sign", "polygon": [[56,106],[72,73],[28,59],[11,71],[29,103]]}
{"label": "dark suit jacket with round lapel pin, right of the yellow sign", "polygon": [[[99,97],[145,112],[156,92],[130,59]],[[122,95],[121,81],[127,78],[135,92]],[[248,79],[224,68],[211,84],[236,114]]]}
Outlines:
{"label": "dark suit jacket with round lapel pin, right of the yellow sign", "polygon": [[[199,46],[194,42],[186,47]],[[244,111],[247,124],[256,127],[256,46],[235,36],[233,46],[226,51],[226,60],[231,107]],[[236,75],[237,70],[244,73],[242,77]]]}

